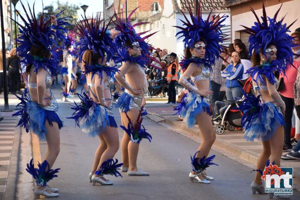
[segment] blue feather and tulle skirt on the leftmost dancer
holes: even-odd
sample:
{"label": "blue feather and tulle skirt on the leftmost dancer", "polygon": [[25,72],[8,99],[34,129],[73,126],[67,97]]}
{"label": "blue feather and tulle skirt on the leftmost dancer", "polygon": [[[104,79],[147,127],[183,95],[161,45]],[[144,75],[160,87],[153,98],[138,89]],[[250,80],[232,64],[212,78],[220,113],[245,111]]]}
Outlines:
{"label": "blue feather and tulle skirt on the leftmost dancer", "polygon": [[26,102],[22,115],[27,115],[25,118],[21,116],[20,119],[27,121],[26,124],[28,124],[28,127],[26,128],[26,131],[30,130],[32,133],[36,134],[39,141],[46,140],[45,136],[47,130],[45,127],[45,120],[47,120],[50,126],[53,126],[53,122],[57,123],[59,129],[63,126],[62,121],[55,111],[45,110],[31,101]]}

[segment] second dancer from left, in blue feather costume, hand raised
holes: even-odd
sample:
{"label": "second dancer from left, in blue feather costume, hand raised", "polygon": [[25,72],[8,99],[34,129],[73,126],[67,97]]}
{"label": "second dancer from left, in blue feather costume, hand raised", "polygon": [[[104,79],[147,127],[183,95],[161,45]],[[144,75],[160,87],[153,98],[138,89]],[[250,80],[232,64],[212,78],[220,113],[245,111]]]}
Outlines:
{"label": "second dancer from left, in blue feather costume, hand raised", "polygon": [[107,31],[105,24],[101,27],[100,17],[96,17],[94,23],[89,23],[84,16],[77,23],[77,42],[80,46],[79,60],[81,60],[82,72],[86,76],[88,95],[79,95],[81,103],[73,106],[72,119],[88,136],[98,137],[100,145],[95,154],[92,170],[89,173],[89,181],[92,185],[112,185],[103,175],[111,174],[119,176],[118,168],[122,164],[116,164],[112,158],[119,148],[117,125],[112,113],[113,76],[118,71],[115,67],[106,66],[106,58],[111,56],[112,38],[118,32],[114,29]]}

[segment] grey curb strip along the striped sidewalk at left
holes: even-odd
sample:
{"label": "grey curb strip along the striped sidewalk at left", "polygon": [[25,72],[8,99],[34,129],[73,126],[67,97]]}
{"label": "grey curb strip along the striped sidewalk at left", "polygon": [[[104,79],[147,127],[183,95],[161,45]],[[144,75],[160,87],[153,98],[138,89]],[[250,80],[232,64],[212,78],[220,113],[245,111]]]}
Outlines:
{"label": "grey curb strip along the striped sidewalk at left", "polygon": [[[16,121],[17,123],[17,121]],[[19,156],[20,156],[20,137],[21,129],[16,128],[14,131],[15,137],[9,160],[9,169],[4,200],[15,200],[16,181],[19,173]]]}

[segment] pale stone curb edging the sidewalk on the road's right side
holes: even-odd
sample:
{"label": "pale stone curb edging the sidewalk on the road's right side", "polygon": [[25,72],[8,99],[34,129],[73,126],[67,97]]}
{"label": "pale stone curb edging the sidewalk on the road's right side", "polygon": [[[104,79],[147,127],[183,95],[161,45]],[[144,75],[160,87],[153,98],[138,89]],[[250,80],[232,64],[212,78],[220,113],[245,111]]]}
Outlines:
{"label": "pale stone curb edging the sidewalk on the road's right side", "polygon": [[[166,117],[163,117],[159,114],[156,114],[156,113],[149,113],[150,115],[156,115],[157,117],[159,118],[162,118],[164,119],[164,123],[175,128],[175,129],[179,129],[183,132],[188,132],[196,137],[200,137],[200,131],[194,129],[194,128],[188,128],[186,125],[182,125],[182,123],[176,123],[174,122],[173,120],[169,120],[167,119]],[[146,115],[147,116],[147,115]],[[151,117],[147,116],[149,119],[151,119]],[[161,121],[163,122],[163,121]],[[180,134],[180,133],[179,133]],[[237,145],[234,145],[234,144],[231,144],[231,143],[228,143],[222,139],[219,139],[219,138],[216,138],[215,142],[213,143],[213,146],[216,147],[216,148],[219,148],[227,153],[230,153],[232,154],[233,156],[239,158],[239,159],[242,159],[248,163],[251,163],[253,165],[256,166],[256,163],[257,163],[257,159],[258,159],[258,156],[253,154],[252,152],[250,151],[247,151],[247,150],[243,150],[242,148],[240,148],[239,146]],[[286,166],[284,164],[281,164],[281,167],[290,167],[290,166]],[[300,192],[300,173],[297,173],[294,171],[294,179],[293,179],[293,184],[294,185],[297,185],[296,188],[294,188],[294,190]],[[295,186],[294,186],[295,187]]]}

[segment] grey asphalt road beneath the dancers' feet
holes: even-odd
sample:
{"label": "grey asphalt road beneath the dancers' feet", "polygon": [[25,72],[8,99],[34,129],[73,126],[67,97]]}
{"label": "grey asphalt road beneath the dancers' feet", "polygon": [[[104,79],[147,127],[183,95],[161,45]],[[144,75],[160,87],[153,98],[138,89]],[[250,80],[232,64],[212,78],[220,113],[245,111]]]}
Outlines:
{"label": "grey asphalt road beneath the dancers' feet", "polygon": [[[55,91],[58,96],[58,90]],[[150,173],[149,177],[123,178],[107,176],[113,181],[112,186],[92,186],[88,180],[94,152],[99,145],[97,138],[89,138],[74,127],[70,116],[69,103],[59,103],[59,116],[64,121],[60,131],[60,154],[53,168],[61,168],[58,178],[49,185],[60,189],[61,200],[263,200],[267,195],[252,195],[250,184],[254,173],[237,161],[222,154],[215,154],[214,162],[218,166],[207,169],[207,174],[214,177],[210,185],[191,183],[188,173],[191,170],[189,155],[193,154],[198,143],[172,130],[145,118],[144,126],[152,135],[149,143],[140,144],[138,167]],[[156,106],[155,104],[149,106]],[[157,104],[157,106],[163,106]],[[114,109],[117,124],[120,116]],[[122,130],[118,128],[119,138]],[[41,155],[46,151],[46,144],[40,145]],[[115,158],[121,161],[120,150]],[[300,194],[294,191],[291,199],[299,200]]]}

